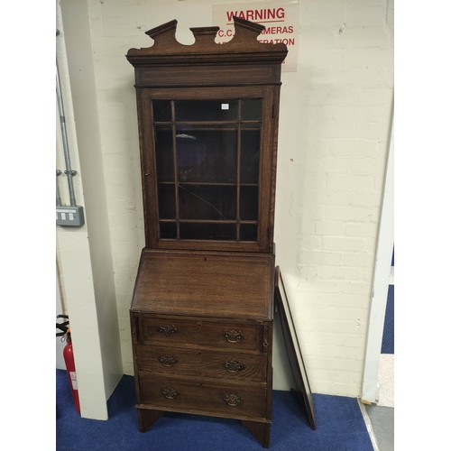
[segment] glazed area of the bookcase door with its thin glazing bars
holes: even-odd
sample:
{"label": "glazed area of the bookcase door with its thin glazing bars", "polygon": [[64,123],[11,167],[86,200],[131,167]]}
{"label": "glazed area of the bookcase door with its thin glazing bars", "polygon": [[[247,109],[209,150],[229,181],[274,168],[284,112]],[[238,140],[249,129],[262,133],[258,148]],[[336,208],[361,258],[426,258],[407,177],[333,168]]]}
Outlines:
{"label": "glazed area of the bookcase door with its thin glazing bars", "polygon": [[262,98],[153,100],[159,239],[258,241]]}

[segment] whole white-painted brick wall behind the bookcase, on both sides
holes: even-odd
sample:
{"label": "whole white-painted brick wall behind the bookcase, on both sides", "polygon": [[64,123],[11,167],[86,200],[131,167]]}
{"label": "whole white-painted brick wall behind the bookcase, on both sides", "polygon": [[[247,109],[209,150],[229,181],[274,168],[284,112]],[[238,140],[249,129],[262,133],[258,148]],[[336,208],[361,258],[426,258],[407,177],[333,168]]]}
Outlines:
{"label": "whole white-painted brick wall behind the bookcase, on both sides", "polygon": [[[143,32],[171,19],[189,43],[189,26],[212,24],[213,3],[88,1],[124,373],[133,373],[128,308],[143,247],[133,68],[124,55],[150,46]],[[312,388],[322,393],[360,394],[393,91],[386,3],[300,0],[298,72],[282,74],[277,262]],[[283,371],[276,364],[275,388],[289,388]]]}

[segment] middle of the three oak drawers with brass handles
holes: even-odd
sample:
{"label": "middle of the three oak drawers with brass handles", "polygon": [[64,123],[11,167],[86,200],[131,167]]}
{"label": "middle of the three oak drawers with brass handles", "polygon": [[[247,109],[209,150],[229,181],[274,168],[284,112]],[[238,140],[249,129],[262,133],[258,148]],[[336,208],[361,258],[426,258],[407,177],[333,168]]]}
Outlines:
{"label": "middle of the three oak drawers with brass handles", "polygon": [[264,383],[268,373],[268,358],[263,353],[136,345],[135,358],[139,370],[159,376]]}

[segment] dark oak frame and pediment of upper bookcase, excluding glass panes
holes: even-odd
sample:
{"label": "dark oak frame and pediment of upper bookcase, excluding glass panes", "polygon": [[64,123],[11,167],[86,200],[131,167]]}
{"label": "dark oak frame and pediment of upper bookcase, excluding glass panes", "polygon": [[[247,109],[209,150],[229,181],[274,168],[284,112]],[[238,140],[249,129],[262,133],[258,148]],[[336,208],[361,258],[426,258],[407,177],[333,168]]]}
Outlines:
{"label": "dark oak frame and pediment of upper bookcase, excluding glass panes", "polygon": [[[147,34],[154,40],[153,45],[131,49],[126,55],[135,73],[146,246],[272,253],[281,62],[287,54],[286,46],[257,41],[264,27],[239,18],[235,18],[234,38],[224,44],[214,41],[217,27],[194,28],[195,43],[180,44],[175,39],[176,26],[177,21],[171,21],[152,29]],[[158,183],[155,177],[158,149],[152,127],[153,102],[245,98],[262,99],[256,239],[226,242],[221,239],[164,239],[159,229]],[[177,123],[173,119],[170,118],[169,123],[175,127]],[[178,181],[174,179],[176,204]],[[177,221],[178,218],[174,219]],[[238,219],[236,221],[239,223]]]}

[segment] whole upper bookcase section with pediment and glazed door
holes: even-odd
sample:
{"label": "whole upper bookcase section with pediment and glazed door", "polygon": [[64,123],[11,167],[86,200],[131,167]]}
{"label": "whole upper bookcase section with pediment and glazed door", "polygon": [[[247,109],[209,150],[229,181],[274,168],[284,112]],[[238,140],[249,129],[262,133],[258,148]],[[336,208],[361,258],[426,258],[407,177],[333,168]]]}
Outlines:
{"label": "whole upper bookcase section with pediment and glazed door", "polygon": [[235,36],[177,21],[130,49],[141,152],[146,247],[272,253],[284,44],[235,17]]}

